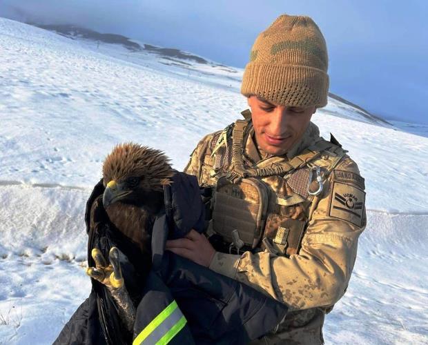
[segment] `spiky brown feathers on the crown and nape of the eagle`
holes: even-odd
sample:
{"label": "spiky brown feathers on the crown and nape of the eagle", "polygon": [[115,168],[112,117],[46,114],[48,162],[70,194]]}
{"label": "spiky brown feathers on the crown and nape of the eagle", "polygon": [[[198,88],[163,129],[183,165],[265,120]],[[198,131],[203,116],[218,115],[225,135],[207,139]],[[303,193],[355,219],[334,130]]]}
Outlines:
{"label": "spiky brown feathers on the crown and nape of the eagle", "polygon": [[139,186],[146,190],[162,190],[174,175],[168,157],[161,150],[134,143],[118,144],[103,164],[104,186],[109,181],[140,177]]}

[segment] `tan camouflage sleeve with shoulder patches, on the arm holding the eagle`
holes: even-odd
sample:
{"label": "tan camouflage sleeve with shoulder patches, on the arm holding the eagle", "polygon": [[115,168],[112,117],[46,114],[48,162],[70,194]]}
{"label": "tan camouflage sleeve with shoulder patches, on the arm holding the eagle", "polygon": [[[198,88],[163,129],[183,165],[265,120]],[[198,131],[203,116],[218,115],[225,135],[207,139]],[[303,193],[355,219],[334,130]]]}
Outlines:
{"label": "tan camouflage sleeve with shoulder patches, on the arm holding the eagle", "polygon": [[[242,256],[216,253],[210,268],[271,295],[291,309],[335,304],[348,286],[358,237],[366,222],[364,191],[352,183],[352,178],[359,177],[358,167],[346,159],[337,169],[351,172],[351,177],[336,179],[340,175],[333,171],[324,193],[313,201],[298,254],[277,257],[267,252],[246,252]],[[358,205],[351,205],[356,207],[351,213],[345,206],[348,201]]]}

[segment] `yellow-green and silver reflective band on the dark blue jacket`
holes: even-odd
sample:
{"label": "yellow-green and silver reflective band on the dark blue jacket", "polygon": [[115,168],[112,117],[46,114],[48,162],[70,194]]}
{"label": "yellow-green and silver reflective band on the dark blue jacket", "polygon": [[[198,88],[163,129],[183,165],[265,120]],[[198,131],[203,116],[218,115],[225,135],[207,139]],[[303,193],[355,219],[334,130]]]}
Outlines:
{"label": "yellow-green and silver reflective band on the dark blue jacket", "polygon": [[135,337],[133,345],[168,344],[182,330],[186,322],[177,302],[174,301]]}

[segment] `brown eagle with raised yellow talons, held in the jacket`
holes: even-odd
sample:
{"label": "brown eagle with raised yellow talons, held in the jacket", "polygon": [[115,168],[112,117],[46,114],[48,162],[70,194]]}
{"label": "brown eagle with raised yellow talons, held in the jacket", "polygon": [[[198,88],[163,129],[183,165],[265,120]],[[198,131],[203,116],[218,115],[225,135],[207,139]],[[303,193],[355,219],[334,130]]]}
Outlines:
{"label": "brown eagle with raised yellow talons, held in the jacket", "polygon": [[[149,258],[150,227],[163,210],[164,186],[171,184],[175,173],[168,157],[161,150],[148,146],[132,142],[118,144],[104,160],[102,172],[105,189],[99,199],[102,198],[102,207],[109,221],[140,251],[142,258]],[[94,202],[92,206],[91,226],[95,208],[99,205]],[[124,254],[119,255],[120,252],[120,248],[113,246],[105,258],[99,248],[92,248],[95,267],[88,267],[86,273],[106,286],[118,306],[122,322],[132,333],[136,311],[124,284],[121,272]],[[138,264],[150,265],[150,262]]]}

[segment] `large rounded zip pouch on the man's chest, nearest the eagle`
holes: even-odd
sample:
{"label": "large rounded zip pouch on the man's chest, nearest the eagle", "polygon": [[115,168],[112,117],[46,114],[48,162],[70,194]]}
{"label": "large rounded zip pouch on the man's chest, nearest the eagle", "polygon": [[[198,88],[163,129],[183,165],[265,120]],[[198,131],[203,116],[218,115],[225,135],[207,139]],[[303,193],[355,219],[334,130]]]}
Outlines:
{"label": "large rounded zip pouch on the man's chest, nearest the eagle", "polygon": [[264,233],[268,204],[264,182],[248,178],[233,184],[222,177],[214,195],[213,230],[235,246],[256,248]]}

